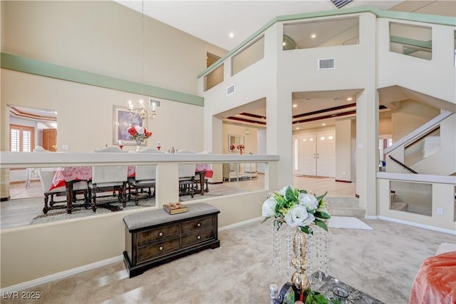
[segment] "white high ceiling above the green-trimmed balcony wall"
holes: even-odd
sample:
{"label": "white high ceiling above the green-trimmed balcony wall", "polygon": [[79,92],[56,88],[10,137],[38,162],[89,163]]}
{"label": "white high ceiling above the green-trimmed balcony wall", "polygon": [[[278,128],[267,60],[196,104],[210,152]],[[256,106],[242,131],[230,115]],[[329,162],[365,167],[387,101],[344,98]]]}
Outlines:
{"label": "white high ceiling above the green-trimmed balcony wall", "polygon": [[[276,16],[337,10],[329,0],[312,1],[116,1],[181,31],[231,51]],[[354,0],[344,6],[390,9],[404,1]],[[422,3],[425,1],[421,1]],[[429,1],[428,1],[429,2]],[[229,33],[234,37],[229,38]]]}

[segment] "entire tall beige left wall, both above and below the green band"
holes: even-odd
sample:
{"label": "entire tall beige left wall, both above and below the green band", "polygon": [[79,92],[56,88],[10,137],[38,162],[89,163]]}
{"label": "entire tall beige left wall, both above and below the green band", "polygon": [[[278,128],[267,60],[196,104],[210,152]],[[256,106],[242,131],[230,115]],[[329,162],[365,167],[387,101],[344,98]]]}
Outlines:
{"label": "entire tall beige left wall, both above and below the green band", "polygon": [[[1,14],[4,53],[138,83],[144,67],[144,83],[193,95],[207,51],[226,53],[145,17],[142,61],[142,15],[115,1],[1,1]],[[68,151],[82,152],[113,145],[113,106],[141,97],[2,69],[1,150],[9,150],[6,105],[55,109],[58,151],[68,145]],[[157,118],[148,122],[153,135],[147,146],[161,141],[165,151],[172,146],[201,151],[202,113],[201,106],[162,100]]]}

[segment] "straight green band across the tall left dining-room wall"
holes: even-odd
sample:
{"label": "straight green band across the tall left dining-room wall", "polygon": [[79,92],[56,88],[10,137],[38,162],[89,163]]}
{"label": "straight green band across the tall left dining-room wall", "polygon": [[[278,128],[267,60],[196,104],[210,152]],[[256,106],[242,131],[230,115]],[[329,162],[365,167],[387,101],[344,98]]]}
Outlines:
{"label": "straight green band across the tall left dining-room wall", "polygon": [[171,91],[166,88],[149,86],[147,84],[142,85],[142,83],[134,81],[90,73],[6,53],[1,53],[0,66],[1,69],[9,69],[27,74],[83,83],[89,86],[110,88],[116,91],[124,91],[139,95],[143,94],[152,98],[163,98],[170,101],[189,103],[195,106],[204,106],[204,98],[200,96]]}

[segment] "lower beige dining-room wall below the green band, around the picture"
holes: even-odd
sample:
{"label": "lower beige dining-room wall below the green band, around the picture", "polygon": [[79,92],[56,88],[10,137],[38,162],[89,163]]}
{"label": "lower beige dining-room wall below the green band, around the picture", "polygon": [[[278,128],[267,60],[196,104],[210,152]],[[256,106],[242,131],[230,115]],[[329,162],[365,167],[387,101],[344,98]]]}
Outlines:
{"label": "lower beige dining-room wall below the green band, around the picture", "polygon": [[[113,146],[113,106],[127,106],[128,100],[140,99],[133,93],[10,70],[1,71],[1,83],[4,108],[6,104],[35,108],[39,105],[57,111],[58,151],[63,151],[63,145],[68,145],[71,152]],[[155,147],[161,141],[164,151],[172,146],[202,151],[202,137],[195,136],[202,133],[202,113],[201,106],[162,100],[156,118],[147,121],[147,128],[152,131],[147,146]],[[128,150],[134,148],[126,146]]]}

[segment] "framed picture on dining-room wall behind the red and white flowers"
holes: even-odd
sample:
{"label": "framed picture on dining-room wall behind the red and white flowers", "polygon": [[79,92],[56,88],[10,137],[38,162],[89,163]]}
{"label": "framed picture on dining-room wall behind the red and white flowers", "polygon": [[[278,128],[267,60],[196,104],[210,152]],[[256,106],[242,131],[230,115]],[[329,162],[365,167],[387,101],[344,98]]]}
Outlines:
{"label": "framed picture on dining-room wall behind the red and white flowers", "polygon": [[[118,145],[119,140],[124,145],[136,146],[136,141],[130,137],[128,128],[130,126],[146,126],[146,120],[141,119],[139,114],[130,113],[124,106],[113,106],[113,144]],[[146,146],[146,143],[142,143]]]}

